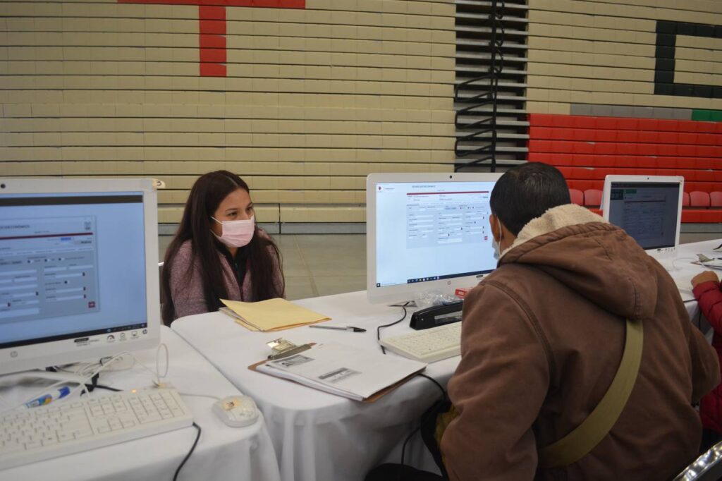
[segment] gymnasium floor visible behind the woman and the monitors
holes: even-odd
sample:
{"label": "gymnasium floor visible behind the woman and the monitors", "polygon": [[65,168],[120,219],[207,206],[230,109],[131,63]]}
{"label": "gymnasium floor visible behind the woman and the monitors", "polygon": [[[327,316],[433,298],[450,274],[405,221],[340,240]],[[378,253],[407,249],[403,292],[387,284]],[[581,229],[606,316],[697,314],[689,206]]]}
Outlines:
{"label": "gymnasium floor visible behind the woman and the monitors", "polygon": [[[289,300],[366,289],[365,234],[275,234],[283,256]],[[682,243],[720,238],[719,233],[682,233]],[[170,242],[160,235],[160,259]]]}

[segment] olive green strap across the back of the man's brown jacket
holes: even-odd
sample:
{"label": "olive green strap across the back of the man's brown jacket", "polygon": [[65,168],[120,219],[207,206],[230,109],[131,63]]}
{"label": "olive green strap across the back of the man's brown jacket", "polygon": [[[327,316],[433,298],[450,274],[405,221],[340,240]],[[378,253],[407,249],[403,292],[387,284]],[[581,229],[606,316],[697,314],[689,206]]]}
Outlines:
{"label": "olive green strap across the back of the man's brown jacket", "polygon": [[617,423],[632,394],[642,360],[642,321],[627,319],[627,339],[622,362],[599,404],[571,433],[539,450],[539,467],[563,467],[586,456]]}

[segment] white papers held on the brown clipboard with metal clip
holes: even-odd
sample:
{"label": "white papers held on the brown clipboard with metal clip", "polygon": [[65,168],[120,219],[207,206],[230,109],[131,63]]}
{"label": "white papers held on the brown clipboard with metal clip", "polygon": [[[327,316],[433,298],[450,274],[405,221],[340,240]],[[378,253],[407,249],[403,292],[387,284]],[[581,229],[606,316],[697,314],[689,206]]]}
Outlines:
{"label": "white papers held on the brown clipboard with metal clip", "polygon": [[409,376],[423,371],[426,364],[329,342],[251,368],[362,401],[369,398],[375,400],[374,394],[385,394],[387,388],[395,387]]}

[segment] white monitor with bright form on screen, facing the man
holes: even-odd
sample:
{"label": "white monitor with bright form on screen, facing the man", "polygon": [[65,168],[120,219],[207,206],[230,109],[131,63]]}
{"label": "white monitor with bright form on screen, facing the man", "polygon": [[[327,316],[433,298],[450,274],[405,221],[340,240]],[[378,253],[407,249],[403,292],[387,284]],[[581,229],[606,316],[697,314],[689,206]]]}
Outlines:
{"label": "white monitor with bright form on screen, facing the man", "polygon": [[367,298],[453,294],[496,268],[489,199],[500,173],[374,173],[366,180]]}

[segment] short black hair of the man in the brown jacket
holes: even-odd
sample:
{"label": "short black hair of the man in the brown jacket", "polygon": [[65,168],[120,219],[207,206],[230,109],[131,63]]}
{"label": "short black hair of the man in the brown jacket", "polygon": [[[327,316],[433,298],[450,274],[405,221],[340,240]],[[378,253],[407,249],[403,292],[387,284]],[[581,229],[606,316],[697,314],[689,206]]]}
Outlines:
{"label": "short black hair of the man in the brown jacket", "polygon": [[541,162],[526,162],[507,170],[497,181],[490,199],[492,213],[513,235],[548,209],[570,203],[562,173]]}

